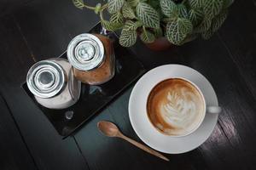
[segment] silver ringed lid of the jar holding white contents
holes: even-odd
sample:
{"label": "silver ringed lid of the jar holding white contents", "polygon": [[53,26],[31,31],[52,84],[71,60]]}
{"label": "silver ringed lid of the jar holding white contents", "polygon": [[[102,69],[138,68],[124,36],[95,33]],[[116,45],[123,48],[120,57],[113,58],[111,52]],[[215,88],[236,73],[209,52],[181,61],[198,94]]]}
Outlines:
{"label": "silver ringed lid of the jar holding white contents", "polygon": [[64,87],[65,72],[54,61],[42,60],[32,65],[26,75],[26,84],[32,94],[39,98],[50,98]]}

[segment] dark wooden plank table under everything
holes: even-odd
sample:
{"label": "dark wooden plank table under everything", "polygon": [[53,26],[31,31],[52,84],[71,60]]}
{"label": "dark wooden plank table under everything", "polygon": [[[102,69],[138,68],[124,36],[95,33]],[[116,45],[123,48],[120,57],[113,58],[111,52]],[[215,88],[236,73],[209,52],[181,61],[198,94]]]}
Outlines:
{"label": "dark wooden plank table under everything", "polygon": [[33,63],[59,56],[74,36],[96,24],[99,19],[92,11],[74,8],[71,0],[3,0],[0,9],[1,170],[256,168],[254,0],[236,0],[228,20],[209,41],[198,39],[166,52],[152,52],[142,42],[132,48],[147,69],[176,63],[200,71],[212,82],[224,109],[204,144],[166,155],[170,162],[97,131],[96,122],[109,120],[141,141],[128,117],[132,87],[64,140],[20,88]]}

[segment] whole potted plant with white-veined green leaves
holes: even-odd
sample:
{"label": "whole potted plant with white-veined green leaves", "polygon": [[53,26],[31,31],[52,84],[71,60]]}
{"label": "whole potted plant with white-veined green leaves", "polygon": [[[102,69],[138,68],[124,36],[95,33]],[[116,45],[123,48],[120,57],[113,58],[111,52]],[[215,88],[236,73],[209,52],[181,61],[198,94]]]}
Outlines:
{"label": "whole potted plant with white-veined green leaves", "polygon": [[[137,37],[149,48],[182,45],[196,37],[208,39],[224,23],[233,0],[108,0],[88,6],[73,0],[77,8],[93,9],[108,31],[121,30],[120,45],[131,47]],[[109,20],[103,16],[108,10]]]}

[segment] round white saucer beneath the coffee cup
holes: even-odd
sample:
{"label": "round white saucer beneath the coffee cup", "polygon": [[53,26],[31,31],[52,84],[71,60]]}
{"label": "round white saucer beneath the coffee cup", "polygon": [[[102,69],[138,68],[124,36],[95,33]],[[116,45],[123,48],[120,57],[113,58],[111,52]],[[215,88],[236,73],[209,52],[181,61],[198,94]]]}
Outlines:
{"label": "round white saucer beneath the coffee cup", "polygon": [[148,120],[147,97],[154,85],[171,77],[183,77],[194,82],[204,94],[207,105],[218,106],[218,99],[211,83],[201,73],[184,65],[162,65],[148,71],[132,89],[129,117],[133,129],[144,143],[154,150],[179,154],[194,150],[207,140],[217,123],[218,114],[207,113],[201,126],[188,136],[170,137],[158,132]]}

